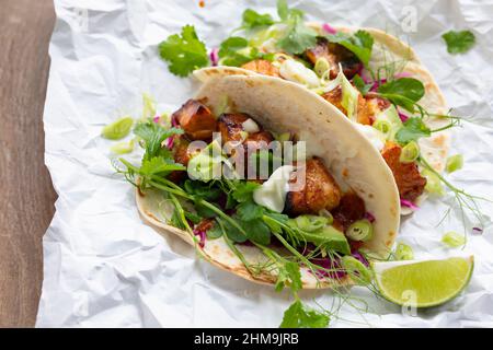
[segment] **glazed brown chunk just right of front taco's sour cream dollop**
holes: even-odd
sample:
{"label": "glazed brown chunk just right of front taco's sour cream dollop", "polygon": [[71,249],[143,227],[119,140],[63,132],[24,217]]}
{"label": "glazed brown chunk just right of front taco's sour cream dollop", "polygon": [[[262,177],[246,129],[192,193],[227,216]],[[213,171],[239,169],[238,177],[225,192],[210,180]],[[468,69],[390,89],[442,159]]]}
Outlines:
{"label": "glazed brown chunk just right of front taco's sour cream dollop", "polygon": [[289,180],[291,188],[299,176],[306,176],[305,186],[286,196],[286,210],[290,214],[317,214],[322,209],[331,210],[339,206],[341,189],[321,159],[308,160]]}

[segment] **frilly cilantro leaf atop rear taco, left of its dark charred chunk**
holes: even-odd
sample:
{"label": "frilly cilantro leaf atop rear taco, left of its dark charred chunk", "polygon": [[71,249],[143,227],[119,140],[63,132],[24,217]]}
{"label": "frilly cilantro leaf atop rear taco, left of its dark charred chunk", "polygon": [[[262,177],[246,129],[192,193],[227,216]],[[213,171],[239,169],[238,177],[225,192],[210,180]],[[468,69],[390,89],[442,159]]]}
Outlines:
{"label": "frilly cilantro leaf atop rear taco, left of its dark charred chunk", "polygon": [[290,10],[286,24],[288,25],[286,34],[277,43],[280,49],[299,55],[317,45],[317,32],[305,25],[302,13]]}

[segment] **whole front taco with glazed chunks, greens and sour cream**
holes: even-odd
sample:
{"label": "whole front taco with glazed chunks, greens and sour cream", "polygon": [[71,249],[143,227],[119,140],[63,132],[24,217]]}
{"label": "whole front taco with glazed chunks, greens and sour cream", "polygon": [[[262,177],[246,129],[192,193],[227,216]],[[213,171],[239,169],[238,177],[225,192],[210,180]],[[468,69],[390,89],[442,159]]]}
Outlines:
{"label": "whole front taco with glazed chunks, greens and sour cream", "polygon": [[368,282],[368,261],[389,255],[392,173],[337,108],[296,83],[209,80],[135,132],[142,164],[123,162],[142,219],[223,270],[276,289],[332,288]]}

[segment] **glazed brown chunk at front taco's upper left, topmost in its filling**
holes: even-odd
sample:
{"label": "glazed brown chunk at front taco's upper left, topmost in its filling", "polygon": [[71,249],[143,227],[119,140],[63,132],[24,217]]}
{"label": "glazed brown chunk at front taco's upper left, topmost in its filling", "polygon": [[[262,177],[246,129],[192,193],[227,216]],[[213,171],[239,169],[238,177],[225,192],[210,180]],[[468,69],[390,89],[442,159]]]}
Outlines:
{"label": "glazed brown chunk at front taco's upper left, topmost in its filling", "polygon": [[173,113],[172,118],[177,120],[191,140],[210,140],[217,130],[217,121],[210,109],[196,100],[188,100]]}

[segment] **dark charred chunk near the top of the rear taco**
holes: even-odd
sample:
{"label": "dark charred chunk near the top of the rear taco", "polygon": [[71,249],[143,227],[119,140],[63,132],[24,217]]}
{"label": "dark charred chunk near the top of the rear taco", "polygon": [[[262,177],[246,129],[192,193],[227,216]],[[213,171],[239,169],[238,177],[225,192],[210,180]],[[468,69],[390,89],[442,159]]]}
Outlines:
{"label": "dark charred chunk near the top of the rear taco", "polygon": [[340,44],[329,43],[325,38],[319,38],[317,46],[305,51],[305,55],[313,65],[317,59],[324,57],[331,66],[331,79],[337,77],[339,63],[341,63],[347,79],[353,79],[363,67],[356,55]]}

